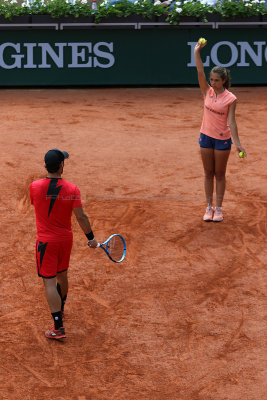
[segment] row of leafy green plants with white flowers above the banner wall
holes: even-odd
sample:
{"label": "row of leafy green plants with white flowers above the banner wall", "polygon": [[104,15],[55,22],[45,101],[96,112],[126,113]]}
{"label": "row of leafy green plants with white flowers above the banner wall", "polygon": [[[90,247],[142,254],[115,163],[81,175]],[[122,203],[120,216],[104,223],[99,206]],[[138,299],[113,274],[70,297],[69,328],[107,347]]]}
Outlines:
{"label": "row of leafy green plants with white flowers above the banner wall", "polygon": [[92,0],[0,0],[0,16],[12,20],[14,16],[46,14],[53,18],[74,16],[76,18],[94,16],[95,22],[116,16],[125,18],[139,15],[153,18],[166,15],[166,21],[178,25],[181,17],[196,17],[207,22],[209,15],[220,14],[228,17],[246,18],[267,14],[267,0],[217,0],[214,4],[204,1],[172,1],[171,7],[164,6],[160,0],[96,0],[98,7],[92,9]]}

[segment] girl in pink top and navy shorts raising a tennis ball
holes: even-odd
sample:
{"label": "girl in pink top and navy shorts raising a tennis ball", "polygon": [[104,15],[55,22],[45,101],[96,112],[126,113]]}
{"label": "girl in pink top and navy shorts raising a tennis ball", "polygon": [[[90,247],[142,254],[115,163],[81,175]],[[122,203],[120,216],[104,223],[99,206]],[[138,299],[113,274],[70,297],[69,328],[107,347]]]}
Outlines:
{"label": "girl in pink top and navy shorts raising a tennis ball", "polygon": [[[199,144],[205,173],[205,194],[207,201],[204,221],[223,220],[222,202],[225,192],[225,172],[231,150],[231,135],[237,152],[245,153],[241,146],[235,120],[236,97],[228,89],[230,72],[220,66],[210,72],[208,84],[200,56],[207,44],[201,40],[195,46],[194,55],[198,82],[204,97],[204,115],[200,130]],[[216,182],[216,203],[213,208],[214,178]]]}

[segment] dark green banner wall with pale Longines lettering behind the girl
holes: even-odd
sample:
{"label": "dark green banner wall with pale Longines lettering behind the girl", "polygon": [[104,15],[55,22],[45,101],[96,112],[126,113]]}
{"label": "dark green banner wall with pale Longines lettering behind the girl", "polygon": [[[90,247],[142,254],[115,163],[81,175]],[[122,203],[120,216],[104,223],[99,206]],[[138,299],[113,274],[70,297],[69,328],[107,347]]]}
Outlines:
{"label": "dark green banner wall with pale Longines lettering behind the girl", "polygon": [[1,31],[0,86],[197,84],[196,39],[208,74],[267,84],[266,29]]}

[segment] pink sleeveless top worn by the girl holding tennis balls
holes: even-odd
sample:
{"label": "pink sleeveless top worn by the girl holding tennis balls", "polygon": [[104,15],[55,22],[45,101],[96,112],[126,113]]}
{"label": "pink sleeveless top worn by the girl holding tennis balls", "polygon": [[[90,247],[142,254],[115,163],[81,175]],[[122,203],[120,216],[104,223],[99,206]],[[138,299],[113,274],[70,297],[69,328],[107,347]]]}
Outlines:
{"label": "pink sleeveless top worn by the girl holding tennis balls", "polygon": [[225,140],[231,137],[228,125],[229,106],[236,100],[236,96],[225,89],[216,95],[210,87],[204,98],[204,114],[200,132],[214,139]]}

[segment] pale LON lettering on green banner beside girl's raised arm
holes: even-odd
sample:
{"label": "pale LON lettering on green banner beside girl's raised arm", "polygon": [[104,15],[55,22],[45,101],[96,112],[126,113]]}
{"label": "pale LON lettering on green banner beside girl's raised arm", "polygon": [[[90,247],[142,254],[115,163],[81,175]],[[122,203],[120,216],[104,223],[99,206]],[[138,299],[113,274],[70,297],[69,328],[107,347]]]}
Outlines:
{"label": "pale LON lettering on green banner beside girl's raised arm", "polygon": [[[191,60],[187,66],[195,67],[194,47],[197,42],[187,42],[187,44],[191,48]],[[237,42],[236,44],[228,41],[218,42],[212,46],[210,56],[207,56],[206,59],[203,60],[203,65],[204,67],[209,67],[211,60],[213,64],[221,65],[222,67],[230,67],[235,64],[238,67],[250,67],[252,63],[258,67],[262,67],[263,62],[267,62],[266,42],[253,42],[253,45],[257,47],[256,51],[248,42]],[[230,58],[226,63],[223,63],[218,56],[219,49],[222,46],[226,46],[230,50]],[[266,46],[265,51],[263,50],[263,46]],[[247,56],[249,56],[249,58]]]}

